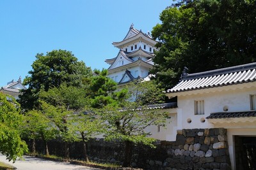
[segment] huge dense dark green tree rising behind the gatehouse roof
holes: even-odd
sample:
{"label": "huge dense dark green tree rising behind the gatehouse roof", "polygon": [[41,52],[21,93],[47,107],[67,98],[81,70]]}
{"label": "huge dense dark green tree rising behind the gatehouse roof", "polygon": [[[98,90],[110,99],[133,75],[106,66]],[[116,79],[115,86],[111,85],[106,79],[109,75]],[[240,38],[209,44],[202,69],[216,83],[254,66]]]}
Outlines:
{"label": "huge dense dark green tree rising behind the gatehouse roof", "polygon": [[197,73],[254,62],[256,1],[184,0],[160,15],[152,73],[161,86],[175,85],[186,66]]}

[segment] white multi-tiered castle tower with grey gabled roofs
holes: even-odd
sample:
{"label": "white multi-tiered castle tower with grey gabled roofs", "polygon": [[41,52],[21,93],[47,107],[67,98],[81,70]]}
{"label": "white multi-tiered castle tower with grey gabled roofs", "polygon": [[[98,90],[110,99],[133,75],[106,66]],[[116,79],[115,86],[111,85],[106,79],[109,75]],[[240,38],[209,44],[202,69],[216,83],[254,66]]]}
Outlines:
{"label": "white multi-tiered castle tower with grey gabled roofs", "polygon": [[132,24],[122,41],[112,43],[120,51],[115,58],[105,60],[111,65],[108,68],[108,77],[119,85],[137,79],[149,80],[148,72],[154,65],[152,57],[156,43],[149,32],[145,34],[138,31]]}

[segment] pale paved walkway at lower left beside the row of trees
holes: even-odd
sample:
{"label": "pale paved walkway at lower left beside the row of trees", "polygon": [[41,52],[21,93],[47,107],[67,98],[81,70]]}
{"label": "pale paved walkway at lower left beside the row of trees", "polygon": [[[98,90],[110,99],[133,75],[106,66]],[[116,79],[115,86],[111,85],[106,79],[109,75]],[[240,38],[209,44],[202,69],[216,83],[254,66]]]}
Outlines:
{"label": "pale paved walkway at lower left beside the row of trees", "polygon": [[38,159],[35,157],[24,156],[24,160],[16,160],[13,164],[6,160],[4,155],[0,154],[0,162],[5,162],[17,167],[19,170],[100,170],[93,167],[77,166],[66,162],[54,162],[51,160]]}

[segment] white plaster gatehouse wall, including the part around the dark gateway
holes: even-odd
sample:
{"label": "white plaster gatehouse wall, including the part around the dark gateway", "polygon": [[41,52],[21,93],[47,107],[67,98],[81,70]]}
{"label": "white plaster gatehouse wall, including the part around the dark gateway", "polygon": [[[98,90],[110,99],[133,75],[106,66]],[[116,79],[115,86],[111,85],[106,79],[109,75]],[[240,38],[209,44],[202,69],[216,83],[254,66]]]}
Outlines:
{"label": "white plaster gatehouse wall, including the part around the dark gateway", "polygon": [[[236,169],[235,141],[234,136],[256,136],[256,124],[254,120],[247,121],[239,118],[240,121],[232,122],[231,119],[221,119],[211,124],[202,118],[208,117],[211,113],[236,111],[250,111],[250,95],[256,94],[255,87],[244,87],[241,89],[223,90],[221,92],[208,92],[204,94],[191,94],[188,96],[178,96],[177,109],[177,129],[206,129],[206,128],[225,128],[227,129],[228,152],[232,169]],[[194,101],[204,100],[204,115],[195,115]],[[188,119],[191,123],[188,123]],[[244,121],[245,120],[245,121]],[[231,122],[230,122],[231,121]]]}

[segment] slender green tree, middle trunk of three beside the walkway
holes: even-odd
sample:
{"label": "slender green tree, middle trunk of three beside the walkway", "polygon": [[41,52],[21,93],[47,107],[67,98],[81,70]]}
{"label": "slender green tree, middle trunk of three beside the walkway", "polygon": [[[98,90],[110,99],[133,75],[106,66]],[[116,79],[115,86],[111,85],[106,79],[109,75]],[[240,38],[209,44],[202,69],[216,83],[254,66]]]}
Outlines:
{"label": "slender green tree, middle trunk of three beside the walkway", "polygon": [[[54,127],[59,131],[61,139],[65,144],[65,158],[69,158],[69,143],[76,141],[73,118],[86,106],[86,90],[62,84],[47,92],[42,90],[40,96],[40,107],[47,119],[51,120]],[[76,124],[76,123],[75,123]]]}

